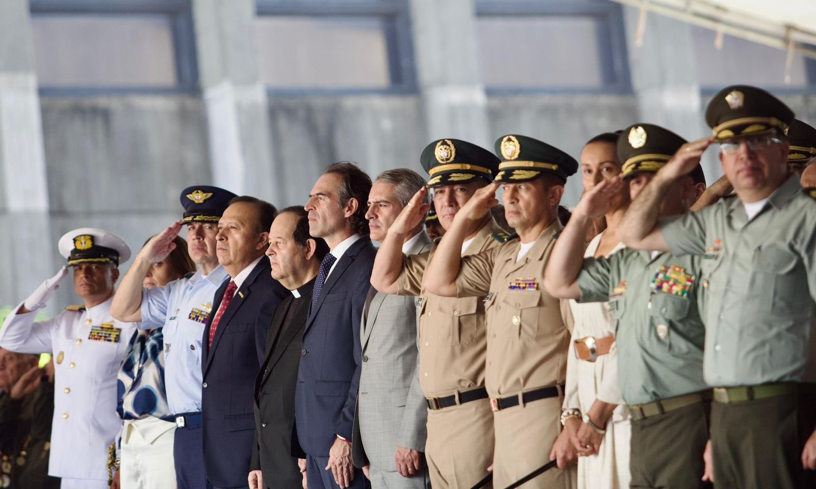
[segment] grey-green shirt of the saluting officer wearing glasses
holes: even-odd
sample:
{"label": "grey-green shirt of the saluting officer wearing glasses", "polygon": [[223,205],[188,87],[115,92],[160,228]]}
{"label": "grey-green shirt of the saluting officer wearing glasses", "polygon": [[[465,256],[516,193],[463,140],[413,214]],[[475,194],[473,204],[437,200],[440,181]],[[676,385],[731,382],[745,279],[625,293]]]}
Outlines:
{"label": "grey-green shirt of the saluting officer wearing glasses", "polygon": [[750,220],[733,196],[659,226],[672,253],[702,255],[709,384],[816,381],[816,200],[796,175]]}

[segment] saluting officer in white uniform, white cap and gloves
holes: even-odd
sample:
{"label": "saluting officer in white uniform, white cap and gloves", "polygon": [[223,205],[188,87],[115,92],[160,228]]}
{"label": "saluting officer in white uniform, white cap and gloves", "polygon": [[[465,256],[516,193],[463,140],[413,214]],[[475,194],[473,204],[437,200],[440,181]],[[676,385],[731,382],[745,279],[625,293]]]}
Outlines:
{"label": "saluting officer in white uniform, white cap and gloves", "polygon": [[[119,363],[135,324],[113,319],[110,302],[118,266],[131,257],[122,238],[92,227],[59,241],[65,267],[44,281],[6,318],[0,346],[22,353],[55,355],[54,421],[48,474],[64,488],[108,487],[108,447],[122,429],[116,413]],[[37,310],[73,267],[73,287],[84,305],[35,323]]]}

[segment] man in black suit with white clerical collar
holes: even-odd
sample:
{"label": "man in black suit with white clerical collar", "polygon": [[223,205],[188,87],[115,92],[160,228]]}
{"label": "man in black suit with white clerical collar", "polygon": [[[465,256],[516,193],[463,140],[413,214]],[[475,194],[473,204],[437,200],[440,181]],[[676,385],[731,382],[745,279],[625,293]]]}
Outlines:
{"label": "man in black suit with white clerical collar", "polygon": [[255,378],[255,445],[252,447],[250,489],[299,487],[305,458],[295,434],[295,384],[301,341],[312,302],[320,262],[329,253],[326,241],[308,232],[303,207],[288,207],[269,228],[266,256],[272,277],[291,291],[277,306],[268,328],[266,352]]}

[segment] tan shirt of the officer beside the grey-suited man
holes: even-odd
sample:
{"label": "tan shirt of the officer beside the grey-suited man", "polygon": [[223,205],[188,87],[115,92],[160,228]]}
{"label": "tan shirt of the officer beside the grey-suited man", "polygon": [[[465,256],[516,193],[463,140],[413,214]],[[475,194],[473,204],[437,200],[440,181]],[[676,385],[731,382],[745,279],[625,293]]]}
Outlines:
{"label": "tan shirt of the officer beside the grey-suited man", "polygon": [[[500,243],[502,228],[490,219],[463,255],[481,253]],[[397,294],[421,296],[419,304],[419,386],[426,397],[451,394],[485,384],[485,306],[481,297],[440,297],[422,288],[432,253],[403,256]]]}

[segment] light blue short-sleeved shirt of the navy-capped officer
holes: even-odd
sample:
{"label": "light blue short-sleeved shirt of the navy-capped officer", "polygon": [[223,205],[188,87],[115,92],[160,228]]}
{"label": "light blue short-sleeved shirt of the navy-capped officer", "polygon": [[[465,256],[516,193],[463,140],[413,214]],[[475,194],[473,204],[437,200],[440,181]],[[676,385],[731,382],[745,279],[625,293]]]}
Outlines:
{"label": "light blue short-sleeved shirt of the navy-capped officer", "polygon": [[174,414],[202,410],[202,336],[227,271],[199,270],[164,287],[144,289],[140,328],[162,328],[167,405]]}

